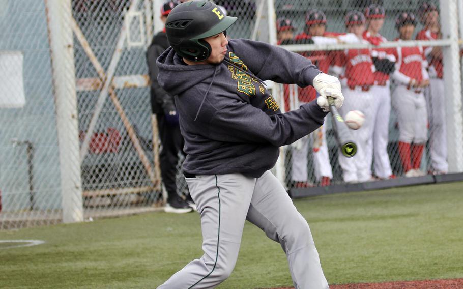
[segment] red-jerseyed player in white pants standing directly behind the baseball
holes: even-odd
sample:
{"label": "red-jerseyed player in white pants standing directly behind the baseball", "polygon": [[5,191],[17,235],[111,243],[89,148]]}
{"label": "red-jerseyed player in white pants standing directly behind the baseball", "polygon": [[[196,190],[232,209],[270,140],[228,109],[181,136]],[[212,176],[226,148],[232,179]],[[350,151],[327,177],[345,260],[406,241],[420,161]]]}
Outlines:
{"label": "red-jerseyed player in white pants standing directly behind the baseball", "polygon": [[[345,43],[368,43],[363,38],[365,31],[365,16],[359,11],[350,11],[345,16],[345,26],[348,34],[338,38]],[[357,154],[352,158],[339,155],[339,164],[343,170],[346,183],[366,182],[371,180],[371,167],[366,158],[368,147],[371,147],[371,134],[374,123],[373,95],[371,88],[375,83],[375,67],[371,58],[371,49],[348,49],[342,54],[340,65],[333,69],[342,75],[341,84],[345,103],[339,110],[342,117],[351,110],[360,110],[365,114],[363,126],[352,131],[357,141]]]}

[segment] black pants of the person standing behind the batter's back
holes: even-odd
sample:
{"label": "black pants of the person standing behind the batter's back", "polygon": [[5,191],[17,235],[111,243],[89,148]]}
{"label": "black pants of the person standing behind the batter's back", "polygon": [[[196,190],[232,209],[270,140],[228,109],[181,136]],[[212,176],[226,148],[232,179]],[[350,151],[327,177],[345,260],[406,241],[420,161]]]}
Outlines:
{"label": "black pants of the person standing behind the batter's back", "polygon": [[162,149],[159,154],[161,162],[161,178],[167,191],[167,201],[176,197],[177,194],[177,164],[179,162],[179,152],[183,155],[183,145],[185,143],[180,134],[180,126],[171,125],[166,122],[164,114],[156,114],[158,120],[159,138],[161,139]]}

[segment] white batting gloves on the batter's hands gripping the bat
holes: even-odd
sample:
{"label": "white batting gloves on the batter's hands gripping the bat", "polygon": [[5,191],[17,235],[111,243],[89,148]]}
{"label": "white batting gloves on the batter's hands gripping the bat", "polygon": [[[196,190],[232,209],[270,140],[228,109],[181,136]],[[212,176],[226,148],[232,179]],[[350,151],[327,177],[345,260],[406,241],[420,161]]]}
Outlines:
{"label": "white batting gloves on the batter's hands gripping the bat", "polygon": [[328,96],[334,99],[334,106],[339,109],[344,103],[344,96],[341,92],[341,83],[334,76],[320,73],[313,78],[313,87],[319,92],[320,96],[316,99],[316,103],[323,111],[330,111]]}

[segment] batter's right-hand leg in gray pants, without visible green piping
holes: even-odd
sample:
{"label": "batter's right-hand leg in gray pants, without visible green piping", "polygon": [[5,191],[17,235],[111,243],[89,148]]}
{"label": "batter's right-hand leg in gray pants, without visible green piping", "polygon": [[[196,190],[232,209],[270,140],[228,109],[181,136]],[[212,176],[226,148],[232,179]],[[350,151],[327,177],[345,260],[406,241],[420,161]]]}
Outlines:
{"label": "batter's right-hand leg in gray pants, without visible green piping", "polygon": [[309,225],[270,171],[257,179],[247,219],[280,243],[295,288],[328,289]]}

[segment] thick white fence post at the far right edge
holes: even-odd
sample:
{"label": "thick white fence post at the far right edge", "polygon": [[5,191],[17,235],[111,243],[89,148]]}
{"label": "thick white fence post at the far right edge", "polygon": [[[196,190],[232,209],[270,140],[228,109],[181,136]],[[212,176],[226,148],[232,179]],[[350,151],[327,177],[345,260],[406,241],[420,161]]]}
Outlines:
{"label": "thick white fence post at the far right edge", "polygon": [[461,71],[458,45],[458,7],[456,0],[440,0],[442,37],[451,40],[442,48],[447,111],[447,147],[449,172],[463,171],[463,115]]}

